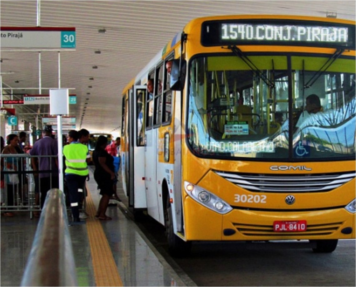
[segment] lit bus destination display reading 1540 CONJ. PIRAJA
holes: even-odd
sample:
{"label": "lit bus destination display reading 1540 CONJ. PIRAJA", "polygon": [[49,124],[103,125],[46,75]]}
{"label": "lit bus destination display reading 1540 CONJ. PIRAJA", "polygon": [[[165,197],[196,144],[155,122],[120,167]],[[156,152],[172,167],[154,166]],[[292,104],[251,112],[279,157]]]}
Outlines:
{"label": "lit bus destination display reading 1540 CONJ. PIRAJA", "polygon": [[320,22],[210,21],[202,26],[203,46],[231,44],[352,47],[355,29]]}

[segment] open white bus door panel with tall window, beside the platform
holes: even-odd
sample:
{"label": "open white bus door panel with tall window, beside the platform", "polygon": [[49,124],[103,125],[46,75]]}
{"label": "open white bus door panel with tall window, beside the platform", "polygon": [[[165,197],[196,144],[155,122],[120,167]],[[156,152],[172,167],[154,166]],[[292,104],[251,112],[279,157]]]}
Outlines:
{"label": "open white bus door panel with tall window, beside the platform", "polygon": [[144,142],[144,103],[146,86],[134,86],[129,93],[129,206],[146,208],[145,195],[145,142]]}

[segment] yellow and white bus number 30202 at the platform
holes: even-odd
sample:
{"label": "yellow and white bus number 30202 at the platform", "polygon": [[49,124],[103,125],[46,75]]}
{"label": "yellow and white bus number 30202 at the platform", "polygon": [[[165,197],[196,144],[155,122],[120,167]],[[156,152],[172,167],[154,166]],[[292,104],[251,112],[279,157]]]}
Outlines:
{"label": "yellow and white bus number 30202 at the platform", "polygon": [[124,190],[173,255],[200,240],[328,253],[355,238],[354,21],[197,18],[127,84],[122,108]]}

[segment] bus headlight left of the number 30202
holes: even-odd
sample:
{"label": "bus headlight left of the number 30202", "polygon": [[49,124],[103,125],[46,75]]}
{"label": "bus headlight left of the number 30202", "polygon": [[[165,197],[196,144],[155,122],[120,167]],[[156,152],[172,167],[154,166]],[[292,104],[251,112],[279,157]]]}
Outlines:
{"label": "bus headlight left of the number 30202", "polygon": [[184,181],[184,189],[195,201],[215,212],[225,214],[232,210],[232,207],[228,203],[200,186]]}

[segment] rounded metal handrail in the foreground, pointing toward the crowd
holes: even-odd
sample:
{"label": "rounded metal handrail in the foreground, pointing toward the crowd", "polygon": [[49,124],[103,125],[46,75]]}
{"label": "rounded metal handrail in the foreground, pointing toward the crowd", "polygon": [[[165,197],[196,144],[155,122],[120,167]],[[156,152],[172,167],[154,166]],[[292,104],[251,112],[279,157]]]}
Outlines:
{"label": "rounded metal handrail in the foreground, pointing toward the crowd", "polygon": [[21,286],[78,286],[64,193],[48,191]]}

